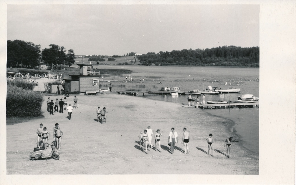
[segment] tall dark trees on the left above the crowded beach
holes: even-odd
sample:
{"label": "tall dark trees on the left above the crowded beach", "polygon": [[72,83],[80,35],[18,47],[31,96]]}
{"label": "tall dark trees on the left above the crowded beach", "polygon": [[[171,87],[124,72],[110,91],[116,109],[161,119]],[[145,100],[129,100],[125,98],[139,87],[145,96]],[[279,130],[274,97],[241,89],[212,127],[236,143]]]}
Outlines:
{"label": "tall dark trees on the left above the crowded beach", "polygon": [[[67,54],[65,53],[67,52]],[[23,40],[7,40],[7,68],[38,68],[41,61],[45,64],[61,68],[62,64],[74,64],[75,53],[72,49],[65,50],[63,46],[50,44],[41,51],[40,45]]]}

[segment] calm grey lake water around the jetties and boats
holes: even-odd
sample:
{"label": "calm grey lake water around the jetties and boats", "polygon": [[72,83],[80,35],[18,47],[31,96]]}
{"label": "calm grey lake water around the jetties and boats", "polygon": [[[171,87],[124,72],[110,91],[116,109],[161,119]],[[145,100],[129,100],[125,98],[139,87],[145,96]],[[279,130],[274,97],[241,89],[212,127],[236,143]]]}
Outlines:
{"label": "calm grey lake water around the jetties and boats", "polygon": [[[229,68],[229,67],[200,67],[200,66],[133,66],[106,65],[104,69],[130,69],[134,82],[112,82],[112,91],[136,90],[157,91],[161,87],[181,87],[181,91],[194,89],[205,90],[212,87],[240,88],[241,92],[224,94],[224,100],[237,100],[243,94],[253,94],[259,97],[259,68]],[[129,76],[127,76],[129,77]],[[125,76],[104,77],[125,80]],[[139,81],[143,79],[144,81]],[[227,82],[227,85],[224,83]],[[239,82],[239,86],[237,86]],[[231,83],[231,85],[230,85]],[[235,85],[234,85],[235,84]],[[107,89],[108,83],[102,82],[102,89]],[[206,101],[222,100],[219,95],[205,95]],[[186,95],[147,95],[146,98],[188,104]],[[199,98],[202,101],[202,98]],[[225,117],[234,121],[233,132],[240,138],[242,145],[248,150],[259,154],[259,108],[226,108],[204,109],[203,111]]]}

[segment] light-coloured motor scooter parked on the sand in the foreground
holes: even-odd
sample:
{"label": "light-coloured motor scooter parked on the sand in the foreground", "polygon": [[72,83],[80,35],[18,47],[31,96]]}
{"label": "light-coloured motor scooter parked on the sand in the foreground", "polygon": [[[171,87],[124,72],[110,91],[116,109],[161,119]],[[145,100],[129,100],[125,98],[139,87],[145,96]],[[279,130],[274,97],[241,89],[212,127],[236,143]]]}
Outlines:
{"label": "light-coloured motor scooter parked on the sand in the foreground", "polygon": [[44,155],[45,147],[36,147],[34,148],[34,152],[30,152],[29,160],[40,160],[40,159],[55,159],[59,160],[59,152],[54,149],[54,141],[51,144],[46,143],[47,147],[51,146],[52,151],[49,155]]}

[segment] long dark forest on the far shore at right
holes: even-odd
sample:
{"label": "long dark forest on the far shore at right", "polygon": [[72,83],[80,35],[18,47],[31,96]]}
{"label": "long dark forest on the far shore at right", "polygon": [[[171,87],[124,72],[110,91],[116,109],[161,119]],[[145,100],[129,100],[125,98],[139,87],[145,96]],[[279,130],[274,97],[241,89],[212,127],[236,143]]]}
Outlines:
{"label": "long dark forest on the far shore at right", "polygon": [[140,65],[160,66],[247,66],[259,67],[259,47],[242,48],[223,46],[211,49],[183,49],[181,51],[160,51],[138,56]]}

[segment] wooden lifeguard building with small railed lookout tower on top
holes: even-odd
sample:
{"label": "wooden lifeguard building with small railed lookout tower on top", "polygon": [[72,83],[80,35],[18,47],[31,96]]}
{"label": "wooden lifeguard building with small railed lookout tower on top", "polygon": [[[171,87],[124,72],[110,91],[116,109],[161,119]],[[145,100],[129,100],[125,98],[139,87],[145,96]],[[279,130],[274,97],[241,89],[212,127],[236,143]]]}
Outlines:
{"label": "wooden lifeguard building with small railed lookout tower on top", "polygon": [[69,92],[80,91],[81,93],[99,92],[100,75],[99,65],[77,64],[80,68],[78,75],[69,75],[65,80],[65,90]]}

